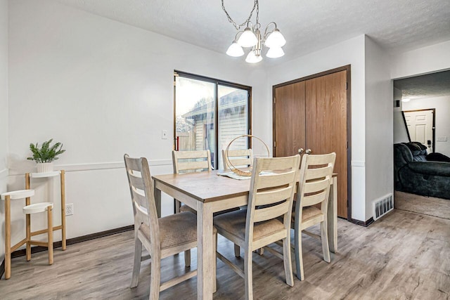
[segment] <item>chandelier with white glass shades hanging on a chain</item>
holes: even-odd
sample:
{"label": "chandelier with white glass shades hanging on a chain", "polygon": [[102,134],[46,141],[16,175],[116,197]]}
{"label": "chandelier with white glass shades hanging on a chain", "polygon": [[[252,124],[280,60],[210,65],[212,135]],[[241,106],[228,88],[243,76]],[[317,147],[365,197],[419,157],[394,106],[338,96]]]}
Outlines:
{"label": "chandelier with white glass shades hanging on a chain", "polygon": [[[229,13],[226,11],[224,6],[224,0],[222,1],[222,9],[224,10],[226,17],[229,22],[233,24],[233,26],[238,30],[236,36],[234,37],[233,43],[229,46],[226,54],[229,56],[239,57],[243,56],[244,50],[243,48],[252,48],[252,50],[248,53],[245,61],[247,63],[259,63],[262,60],[262,44],[269,48],[266,53],[266,57],[268,58],[280,58],[284,56],[283,47],[286,44],[286,40],[281,34],[280,30],[276,27],[275,22],[270,22],[266,29],[264,30],[264,34],[261,34],[259,30],[261,28],[261,24],[259,24],[259,0],[255,0],[255,4],[250,11],[250,15],[247,20],[240,25],[237,25],[236,22],[230,17]],[[253,13],[256,10],[256,20],[255,24],[250,20],[252,18]],[[273,25],[273,26],[272,26]],[[245,26],[244,30],[240,30]],[[270,30],[271,27],[274,27]]]}

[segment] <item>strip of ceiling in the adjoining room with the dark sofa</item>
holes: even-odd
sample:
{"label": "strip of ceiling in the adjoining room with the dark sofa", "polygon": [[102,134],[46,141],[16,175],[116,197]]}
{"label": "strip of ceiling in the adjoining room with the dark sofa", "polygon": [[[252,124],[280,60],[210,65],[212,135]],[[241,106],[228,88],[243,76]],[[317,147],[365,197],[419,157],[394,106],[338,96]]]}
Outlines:
{"label": "strip of ceiling in the adjoining room with the dark sofa", "polygon": [[401,90],[403,98],[450,96],[450,71],[394,80],[394,87]]}

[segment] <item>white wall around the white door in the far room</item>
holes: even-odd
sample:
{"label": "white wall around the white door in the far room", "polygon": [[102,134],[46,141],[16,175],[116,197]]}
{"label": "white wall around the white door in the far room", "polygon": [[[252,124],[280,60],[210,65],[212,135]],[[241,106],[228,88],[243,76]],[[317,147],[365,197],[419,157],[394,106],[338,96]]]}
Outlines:
{"label": "white wall around the white door in the far room", "polygon": [[[403,110],[423,110],[435,108],[436,144],[435,152],[450,156],[450,96],[413,99],[403,103]],[[447,141],[437,141],[446,137]]]}

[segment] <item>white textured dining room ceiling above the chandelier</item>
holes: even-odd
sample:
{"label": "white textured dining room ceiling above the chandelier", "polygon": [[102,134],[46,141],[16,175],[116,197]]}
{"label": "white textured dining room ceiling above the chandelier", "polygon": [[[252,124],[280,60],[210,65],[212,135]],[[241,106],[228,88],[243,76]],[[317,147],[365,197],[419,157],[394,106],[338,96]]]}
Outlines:
{"label": "white textured dining room ceiling above the chandelier", "polygon": [[[224,53],[236,34],[220,0],[56,0],[105,18]],[[224,0],[237,23],[252,0]],[[276,22],[288,43],[284,61],[367,34],[387,51],[450,39],[450,0],[261,0],[263,29]],[[269,60],[269,59],[266,59]]]}

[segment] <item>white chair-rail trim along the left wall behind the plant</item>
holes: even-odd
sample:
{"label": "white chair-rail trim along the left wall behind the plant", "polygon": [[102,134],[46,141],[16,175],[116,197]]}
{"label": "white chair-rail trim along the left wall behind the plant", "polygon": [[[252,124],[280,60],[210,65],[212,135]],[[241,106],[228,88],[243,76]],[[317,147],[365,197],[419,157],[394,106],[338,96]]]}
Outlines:
{"label": "white chair-rail trim along the left wall behind the plant", "polygon": [[[172,166],[172,159],[154,159],[148,162],[150,167],[154,166]],[[122,169],[124,168],[124,162],[94,162],[91,164],[58,164],[54,168],[56,170],[65,170],[66,172],[76,171],[94,171],[105,169]],[[6,169],[6,171],[8,171]],[[10,169],[9,175],[23,175],[27,172],[31,172],[30,169]],[[1,173],[0,173],[1,174]]]}

